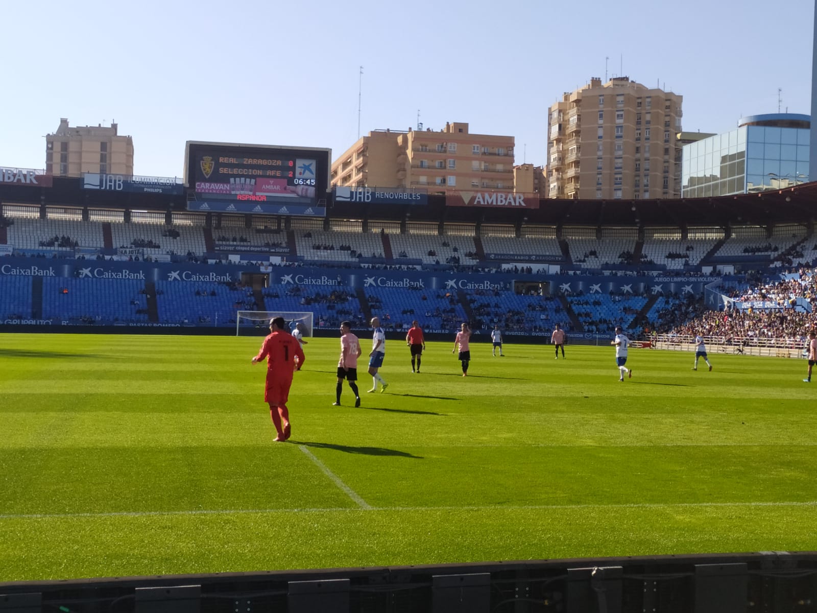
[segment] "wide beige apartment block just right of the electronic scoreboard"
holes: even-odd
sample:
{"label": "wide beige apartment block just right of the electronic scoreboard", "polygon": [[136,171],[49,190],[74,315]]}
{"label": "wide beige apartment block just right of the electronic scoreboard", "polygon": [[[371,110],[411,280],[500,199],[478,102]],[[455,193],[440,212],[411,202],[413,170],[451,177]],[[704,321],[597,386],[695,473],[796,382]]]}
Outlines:
{"label": "wide beige apartment block just right of the electronic scoreboard", "polygon": [[334,161],[332,185],[511,192],[513,155],[513,136],[471,134],[467,123],[439,132],[375,130]]}

